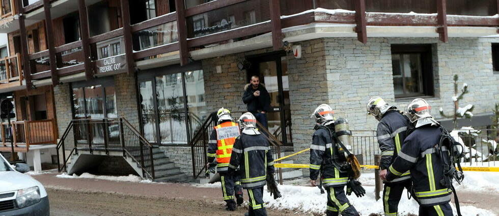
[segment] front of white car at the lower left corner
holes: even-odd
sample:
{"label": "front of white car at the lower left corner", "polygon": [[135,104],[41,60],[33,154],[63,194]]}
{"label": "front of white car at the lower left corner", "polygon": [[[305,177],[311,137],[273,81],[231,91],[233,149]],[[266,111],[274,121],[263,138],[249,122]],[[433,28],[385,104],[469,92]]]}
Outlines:
{"label": "front of white car at the lower left corner", "polygon": [[26,164],[11,166],[0,154],[0,216],[50,215],[45,188],[39,181],[18,171],[27,172],[29,167]]}

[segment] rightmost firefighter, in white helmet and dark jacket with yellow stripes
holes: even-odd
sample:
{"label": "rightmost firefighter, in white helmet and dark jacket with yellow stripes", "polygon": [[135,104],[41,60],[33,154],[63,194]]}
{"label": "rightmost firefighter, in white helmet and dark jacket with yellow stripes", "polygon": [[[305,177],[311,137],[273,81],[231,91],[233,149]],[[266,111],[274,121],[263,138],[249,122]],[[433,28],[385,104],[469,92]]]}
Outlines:
{"label": "rightmost firefighter, in white helmet and dark jacket with yellow stripes", "polygon": [[[430,114],[430,106],[421,98],[407,107],[407,116],[414,126],[404,140],[402,149],[388,168],[387,181],[393,181],[410,171],[412,195],[420,204],[419,215],[452,216],[452,186],[446,186],[442,151],[437,148],[442,136],[438,122]],[[451,184],[452,185],[452,184]]]}

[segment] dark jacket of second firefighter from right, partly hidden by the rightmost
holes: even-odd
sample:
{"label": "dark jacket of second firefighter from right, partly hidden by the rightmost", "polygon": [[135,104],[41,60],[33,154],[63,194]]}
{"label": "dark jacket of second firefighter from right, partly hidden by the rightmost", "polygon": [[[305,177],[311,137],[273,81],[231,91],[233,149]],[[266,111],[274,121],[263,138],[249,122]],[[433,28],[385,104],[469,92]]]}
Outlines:
{"label": "dark jacket of second firefighter from right, partly hidden by the rightmost", "polygon": [[[381,149],[380,169],[387,169],[397,158],[404,144],[405,132],[409,125],[409,119],[397,110],[387,111],[378,124],[376,131],[379,148]],[[405,172],[391,182],[398,182],[410,178],[410,173]]]}

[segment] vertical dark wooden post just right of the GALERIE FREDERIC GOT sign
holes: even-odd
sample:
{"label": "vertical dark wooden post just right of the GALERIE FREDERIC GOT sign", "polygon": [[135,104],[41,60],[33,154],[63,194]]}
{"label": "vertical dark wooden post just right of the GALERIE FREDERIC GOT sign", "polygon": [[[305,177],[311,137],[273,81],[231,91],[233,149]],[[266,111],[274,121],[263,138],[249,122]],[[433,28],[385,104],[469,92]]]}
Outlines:
{"label": "vertical dark wooden post just right of the GALERIE FREDERIC GOT sign", "polygon": [[120,3],[127,73],[132,74],[135,71],[135,61],[133,60],[132,33],[130,27],[130,6],[128,5],[128,0],[121,0]]}

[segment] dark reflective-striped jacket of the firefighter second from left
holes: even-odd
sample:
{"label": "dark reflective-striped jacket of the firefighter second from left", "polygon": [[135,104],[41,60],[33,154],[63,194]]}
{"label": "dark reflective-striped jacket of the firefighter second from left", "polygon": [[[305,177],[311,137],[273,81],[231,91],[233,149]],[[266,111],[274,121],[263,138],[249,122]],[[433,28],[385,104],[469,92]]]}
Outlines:
{"label": "dark reflective-striped jacket of the firefighter second from left", "polygon": [[229,172],[239,167],[243,189],[265,186],[267,174],[274,173],[274,160],[267,138],[263,134],[242,133],[232,148]]}

